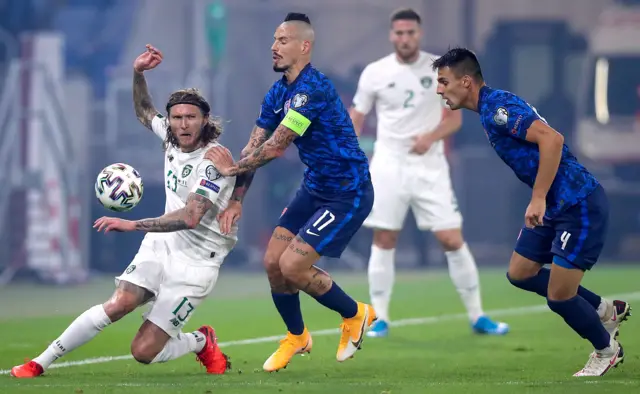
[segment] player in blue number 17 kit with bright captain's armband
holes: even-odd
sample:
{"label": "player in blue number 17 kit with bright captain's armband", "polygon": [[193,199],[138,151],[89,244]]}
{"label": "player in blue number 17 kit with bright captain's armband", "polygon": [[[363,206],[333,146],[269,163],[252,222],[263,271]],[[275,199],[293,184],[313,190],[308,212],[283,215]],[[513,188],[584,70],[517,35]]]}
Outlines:
{"label": "player in blue number 17 kit with bright captain's armband", "polygon": [[[290,144],[298,147],[300,160],[307,166],[264,257],[273,302],[288,330],[264,363],[266,371],[284,368],[295,354],[311,350],[299,290],[342,316],[338,361],[353,357],[376,319],[370,305],[354,301],[314,265],[320,256],[340,257],[371,211],[373,186],[367,157],[333,84],[310,63],[314,31],[309,18],[290,13],[274,39],[273,69],[284,76],[265,96],[243,158],[234,163],[226,149],[212,149],[205,156],[222,175],[238,176],[232,197],[238,202],[251,173],[281,156]],[[239,209],[238,203],[221,214],[223,230],[229,221],[237,220]]]}

